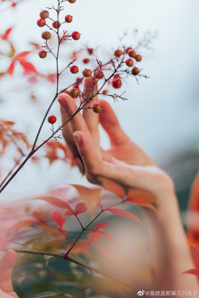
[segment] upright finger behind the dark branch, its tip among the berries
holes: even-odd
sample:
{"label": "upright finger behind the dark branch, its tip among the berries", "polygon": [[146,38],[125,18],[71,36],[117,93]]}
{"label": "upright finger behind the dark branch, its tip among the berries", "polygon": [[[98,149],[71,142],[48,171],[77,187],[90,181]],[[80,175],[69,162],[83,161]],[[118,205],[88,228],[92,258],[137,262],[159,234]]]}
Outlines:
{"label": "upright finger behind the dark branch, its tip among the berries", "polygon": [[[94,86],[94,88],[92,88]],[[96,79],[94,80],[92,77],[88,77],[85,79],[84,82],[84,95],[86,97],[92,96],[98,92],[98,84]],[[96,102],[98,102],[98,96],[90,101],[85,107],[92,107]],[[100,136],[99,136],[99,114],[94,113],[92,109],[83,110],[83,117],[87,123],[87,126],[91,132],[91,135],[95,140],[99,143]]]}

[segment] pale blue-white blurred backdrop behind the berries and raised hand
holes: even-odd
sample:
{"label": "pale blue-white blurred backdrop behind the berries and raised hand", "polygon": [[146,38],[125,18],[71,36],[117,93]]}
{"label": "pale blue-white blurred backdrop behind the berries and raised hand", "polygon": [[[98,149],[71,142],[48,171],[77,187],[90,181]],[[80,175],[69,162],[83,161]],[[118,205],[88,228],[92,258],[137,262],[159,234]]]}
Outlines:
{"label": "pale blue-white blurred backdrop behind the berries and raised hand", "polygon": [[[10,1],[0,3],[0,33],[13,27],[9,39],[17,53],[32,51],[34,47],[29,42],[43,45],[43,28],[38,27],[36,21],[40,10],[54,2],[23,0],[12,8],[8,8]],[[185,210],[190,185],[199,165],[199,2],[77,0],[73,5],[65,3],[64,6],[63,19],[68,13],[74,16],[74,21],[67,25],[69,32],[77,30],[82,36],[62,50],[61,68],[70,61],[72,51],[85,45],[94,49],[99,47],[100,59],[107,61],[124,32],[128,35],[121,43],[127,46],[134,46],[143,38],[152,39],[152,49],[139,48],[139,54],[143,56],[140,68],[150,78],[140,78],[139,85],[134,77],[123,83],[121,91],[126,90],[128,101],[107,100],[127,134],[172,176],[181,209]],[[55,48],[56,40],[52,44]],[[8,50],[7,42],[1,40],[0,52]],[[38,72],[54,74],[55,60],[49,55],[41,60],[37,53],[33,51],[28,61]],[[5,72],[9,65],[10,59],[1,55],[0,72]],[[82,65],[80,69],[83,68]],[[69,78],[67,74],[63,76],[60,88],[68,85],[70,80],[70,75]],[[13,76],[0,78],[0,119],[14,121],[14,128],[26,134],[32,144],[55,91],[56,84],[44,78],[35,84],[28,83],[17,64]],[[56,115],[59,126],[58,103],[50,113]],[[50,125],[46,121],[38,144],[49,135]],[[107,136],[103,132],[101,136],[101,145],[107,148]],[[10,149],[1,157],[1,180],[13,166],[13,155],[15,153]],[[76,167],[71,170],[69,164],[59,160],[52,165],[45,158],[37,164],[28,162],[1,194],[1,203],[36,196],[68,183],[86,185],[87,181]]]}

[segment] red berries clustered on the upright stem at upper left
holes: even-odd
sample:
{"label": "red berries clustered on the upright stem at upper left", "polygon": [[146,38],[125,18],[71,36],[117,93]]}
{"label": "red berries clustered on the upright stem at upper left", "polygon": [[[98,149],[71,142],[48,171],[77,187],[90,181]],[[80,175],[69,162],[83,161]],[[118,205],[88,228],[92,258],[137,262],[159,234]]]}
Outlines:
{"label": "red berries clustered on the upright stem at upper left", "polygon": [[[75,3],[76,0],[68,0],[70,3]],[[40,16],[40,19],[38,19],[37,21],[37,25],[39,27],[44,27],[46,25],[46,19],[49,17],[49,12],[47,10],[42,10],[39,14]],[[65,16],[65,22],[66,23],[71,23],[73,20],[73,16],[70,15],[70,14],[67,14]],[[52,23],[52,26],[53,28],[55,29],[58,29],[60,26],[61,26],[61,23],[59,21],[53,21]],[[77,32],[77,31],[74,31],[72,34],[71,34],[72,38],[74,40],[79,40],[80,39],[80,33]],[[41,37],[43,39],[45,39],[46,41],[51,39],[52,35],[49,31],[44,31],[42,34],[41,34]],[[44,50],[40,50],[39,51],[39,57],[40,58],[45,58],[47,56],[47,52],[44,51]]]}

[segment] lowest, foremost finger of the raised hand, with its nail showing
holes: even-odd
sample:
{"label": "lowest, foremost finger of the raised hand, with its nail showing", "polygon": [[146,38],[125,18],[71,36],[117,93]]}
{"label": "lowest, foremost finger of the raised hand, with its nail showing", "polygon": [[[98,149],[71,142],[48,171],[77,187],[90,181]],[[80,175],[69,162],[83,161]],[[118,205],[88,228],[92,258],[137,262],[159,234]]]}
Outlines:
{"label": "lowest, foremost finger of the raised hand, with its nail showing", "polygon": [[81,131],[76,131],[74,138],[87,172],[91,175],[100,172],[102,167],[101,160],[92,148],[87,136]]}

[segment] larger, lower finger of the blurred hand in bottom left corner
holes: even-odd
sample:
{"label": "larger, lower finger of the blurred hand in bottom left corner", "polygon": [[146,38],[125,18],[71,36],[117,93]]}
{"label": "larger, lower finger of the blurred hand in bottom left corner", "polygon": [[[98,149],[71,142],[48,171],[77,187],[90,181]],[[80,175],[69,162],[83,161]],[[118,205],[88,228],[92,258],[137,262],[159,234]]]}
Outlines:
{"label": "larger, lower finger of the blurred hand in bottom left corner", "polygon": [[0,272],[3,273],[0,274],[0,289],[4,292],[13,291],[11,276],[15,260],[16,253],[11,249],[7,250],[4,257],[0,260]]}

